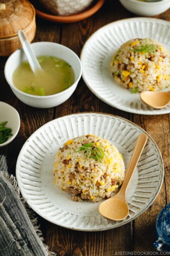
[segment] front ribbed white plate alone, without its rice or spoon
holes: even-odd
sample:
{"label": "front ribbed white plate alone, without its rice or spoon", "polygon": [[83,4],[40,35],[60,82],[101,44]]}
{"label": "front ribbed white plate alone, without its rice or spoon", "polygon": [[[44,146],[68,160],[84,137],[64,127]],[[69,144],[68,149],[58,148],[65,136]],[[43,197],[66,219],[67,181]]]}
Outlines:
{"label": "front ribbed white plate alone, without its rice or spoon", "polygon": [[[77,113],[46,123],[32,134],[17,159],[16,177],[27,203],[40,216],[54,224],[75,230],[97,231],[119,227],[134,220],[153,203],[164,175],[161,153],[152,138],[148,141],[127,188],[129,216],[120,222],[103,218],[100,202],[74,202],[71,195],[54,186],[53,165],[59,147],[68,139],[95,134],[119,149],[127,169],[142,128],[118,116],[103,113]],[[103,199],[104,200],[104,199]]]}

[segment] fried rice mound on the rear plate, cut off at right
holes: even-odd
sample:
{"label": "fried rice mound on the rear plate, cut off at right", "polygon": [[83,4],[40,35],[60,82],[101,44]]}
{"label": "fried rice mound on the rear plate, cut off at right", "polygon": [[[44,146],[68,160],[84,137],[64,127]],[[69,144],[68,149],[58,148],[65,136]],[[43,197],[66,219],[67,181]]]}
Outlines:
{"label": "fried rice mound on the rear plate, cut off at right", "polygon": [[131,93],[164,90],[170,85],[170,52],[150,38],[131,39],[113,56],[111,74]]}

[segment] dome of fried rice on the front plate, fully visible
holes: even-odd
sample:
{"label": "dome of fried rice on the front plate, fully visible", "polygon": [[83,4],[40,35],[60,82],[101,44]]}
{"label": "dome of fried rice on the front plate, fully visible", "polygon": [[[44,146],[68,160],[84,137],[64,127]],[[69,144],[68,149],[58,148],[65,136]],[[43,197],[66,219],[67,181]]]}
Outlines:
{"label": "dome of fried rice on the front plate, fully visible", "polygon": [[73,201],[110,198],[125,177],[118,149],[94,134],[82,135],[59,148],[54,163],[54,184],[71,194]]}

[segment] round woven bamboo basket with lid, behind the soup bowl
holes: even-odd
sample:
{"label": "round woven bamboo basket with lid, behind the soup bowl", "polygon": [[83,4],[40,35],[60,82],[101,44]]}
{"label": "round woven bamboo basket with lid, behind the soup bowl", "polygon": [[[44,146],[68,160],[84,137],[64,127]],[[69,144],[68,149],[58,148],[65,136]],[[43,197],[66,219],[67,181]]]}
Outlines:
{"label": "round woven bamboo basket with lid, behind the soup bowl", "polygon": [[20,29],[31,43],[36,31],[34,6],[27,0],[0,0],[0,56],[22,47],[17,36]]}

